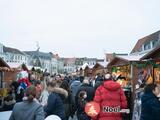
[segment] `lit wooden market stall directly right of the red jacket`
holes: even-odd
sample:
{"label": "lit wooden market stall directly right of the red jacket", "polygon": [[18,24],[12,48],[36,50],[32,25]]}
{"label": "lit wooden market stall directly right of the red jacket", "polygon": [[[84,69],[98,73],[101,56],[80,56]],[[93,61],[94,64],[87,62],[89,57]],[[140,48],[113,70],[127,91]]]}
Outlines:
{"label": "lit wooden market stall directly right of the red jacket", "polygon": [[[112,73],[115,81],[118,82],[127,97],[128,108],[133,110],[135,99],[135,87],[138,82],[139,68],[137,65],[144,64],[140,62],[141,56],[116,56],[107,66]],[[132,113],[131,113],[132,114]],[[127,117],[131,117],[131,114]]]}

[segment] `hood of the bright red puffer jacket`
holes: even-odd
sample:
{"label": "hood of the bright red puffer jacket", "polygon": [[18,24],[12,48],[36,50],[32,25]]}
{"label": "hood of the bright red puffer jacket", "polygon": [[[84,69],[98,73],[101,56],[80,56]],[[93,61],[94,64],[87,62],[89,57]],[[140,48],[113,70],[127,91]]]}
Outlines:
{"label": "hood of the bright red puffer jacket", "polygon": [[121,85],[117,82],[112,80],[107,80],[103,83],[103,87],[110,90],[110,91],[117,91],[121,88]]}

